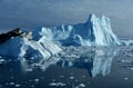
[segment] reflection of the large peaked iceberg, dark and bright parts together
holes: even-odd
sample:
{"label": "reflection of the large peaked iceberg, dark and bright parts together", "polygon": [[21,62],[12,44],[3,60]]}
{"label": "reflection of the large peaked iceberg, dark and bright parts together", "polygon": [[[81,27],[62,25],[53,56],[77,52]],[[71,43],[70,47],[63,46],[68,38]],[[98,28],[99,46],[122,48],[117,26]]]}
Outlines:
{"label": "reflection of the large peaked iceberg, dark and bright parts together", "polygon": [[[82,49],[80,49],[82,50]],[[78,50],[75,50],[78,52]],[[65,67],[76,67],[86,69],[91,77],[98,75],[106,76],[111,71],[111,66],[113,58],[117,55],[119,49],[116,48],[94,48],[89,50],[83,50],[79,55],[71,55],[76,57],[65,57],[62,58],[62,61],[59,62],[63,68]],[[73,51],[73,53],[75,53]]]}

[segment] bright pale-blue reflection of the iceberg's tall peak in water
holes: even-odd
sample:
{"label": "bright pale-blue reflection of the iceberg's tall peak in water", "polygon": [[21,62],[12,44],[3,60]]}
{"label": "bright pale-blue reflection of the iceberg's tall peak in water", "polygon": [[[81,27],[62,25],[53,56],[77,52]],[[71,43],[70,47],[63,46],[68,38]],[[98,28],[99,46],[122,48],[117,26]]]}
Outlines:
{"label": "bright pale-blue reflection of the iceberg's tall peak in water", "polygon": [[98,75],[106,76],[111,71],[111,66],[113,58],[119,52],[117,49],[98,49],[95,50],[95,56],[93,58],[93,67],[91,70],[92,77]]}

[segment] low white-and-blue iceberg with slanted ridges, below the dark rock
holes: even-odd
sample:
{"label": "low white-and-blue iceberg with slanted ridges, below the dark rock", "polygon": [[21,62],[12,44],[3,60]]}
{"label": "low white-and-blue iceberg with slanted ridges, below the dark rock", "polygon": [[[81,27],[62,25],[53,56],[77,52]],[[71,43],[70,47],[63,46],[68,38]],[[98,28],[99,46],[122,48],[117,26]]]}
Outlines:
{"label": "low white-and-blue iceberg with slanted ridges, below the dark rock", "polygon": [[10,58],[45,59],[60,51],[61,49],[57,45],[51,41],[44,42],[42,38],[34,41],[17,37],[0,45],[0,56]]}

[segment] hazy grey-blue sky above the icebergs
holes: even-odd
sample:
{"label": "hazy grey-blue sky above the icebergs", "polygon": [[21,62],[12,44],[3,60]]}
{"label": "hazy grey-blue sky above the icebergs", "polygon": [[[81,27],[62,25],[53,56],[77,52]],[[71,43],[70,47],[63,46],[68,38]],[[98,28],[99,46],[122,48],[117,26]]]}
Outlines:
{"label": "hazy grey-blue sky above the icebergs", "polygon": [[133,0],[0,0],[0,32],[85,22],[90,13],[109,17],[120,38],[133,38]]}

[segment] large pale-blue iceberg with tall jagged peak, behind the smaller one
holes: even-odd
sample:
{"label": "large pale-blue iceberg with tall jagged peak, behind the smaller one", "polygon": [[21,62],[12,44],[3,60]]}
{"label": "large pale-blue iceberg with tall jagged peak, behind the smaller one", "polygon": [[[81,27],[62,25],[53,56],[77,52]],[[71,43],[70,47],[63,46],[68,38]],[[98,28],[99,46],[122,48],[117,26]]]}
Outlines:
{"label": "large pale-blue iceberg with tall jagged peak, behind the smaller one", "polygon": [[120,45],[120,40],[111,29],[110,19],[104,16],[96,18],[94,14],[91,14],[85,23],[39,28],[34,31],[34,36],[37,40],[44,36],[48,40],[63,46]]}

